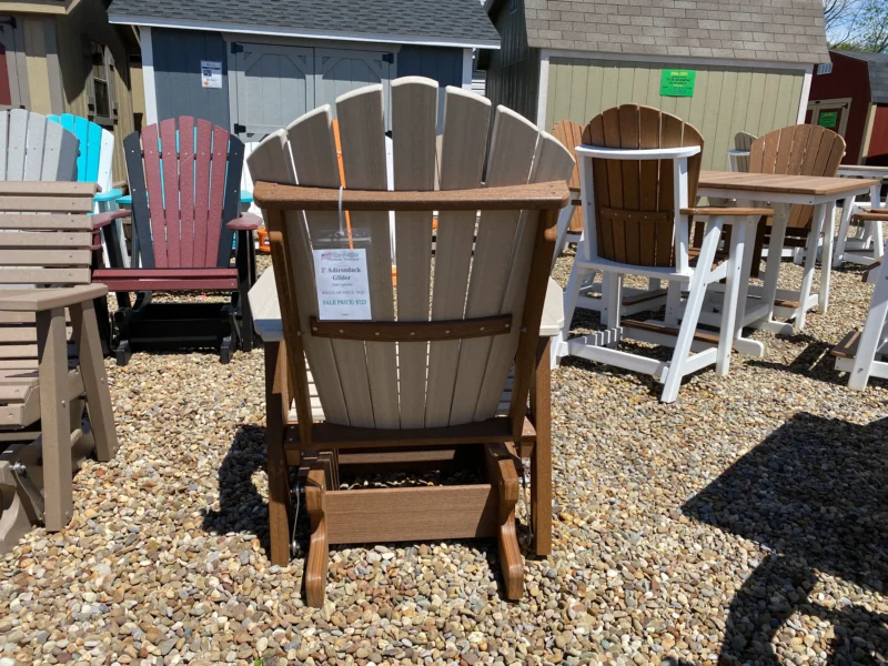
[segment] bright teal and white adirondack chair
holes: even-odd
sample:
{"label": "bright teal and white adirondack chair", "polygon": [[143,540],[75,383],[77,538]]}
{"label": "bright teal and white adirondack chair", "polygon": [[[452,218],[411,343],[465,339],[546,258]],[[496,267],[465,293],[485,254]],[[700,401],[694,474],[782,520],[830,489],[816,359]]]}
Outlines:
{"label": "bright teal and white adirondack chair", "polygon": [[[104,213],[118,210],[118,200],[123,193],[119,189],[111,186],[114,134],[85,118],[70,113],[48,115],[47,119],[72,132],[80,142],[80,154],[77,159],[77,181],[80,183],[98,183],[101,188],[101,192],[95,194],[93,199],[93,212]],[[117,220],[113,224],[118,225],[113,238],[118,239],[120,245],[119,261],[124,266],[129,266],[130,256],[123,238],[122,222]],[[102,244],[105,245],[107,265],[120,265],[115,259],[111,258],[104,239],[105,236],[103,235]]]}

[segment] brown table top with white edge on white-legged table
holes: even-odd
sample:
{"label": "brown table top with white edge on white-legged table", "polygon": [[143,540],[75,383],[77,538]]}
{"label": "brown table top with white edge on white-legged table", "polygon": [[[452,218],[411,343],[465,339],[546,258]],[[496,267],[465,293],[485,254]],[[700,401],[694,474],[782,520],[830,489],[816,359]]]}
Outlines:
{"label": "brown table top with white edge on white-legged table", "polygon": [[806,194],[830,196],[859,192],[878,185],[877,180],[826,178],[819,175],[783,175],[774,173],[738,173],[734,171],[702,171],[699,189],[734,190],[760,194]]}

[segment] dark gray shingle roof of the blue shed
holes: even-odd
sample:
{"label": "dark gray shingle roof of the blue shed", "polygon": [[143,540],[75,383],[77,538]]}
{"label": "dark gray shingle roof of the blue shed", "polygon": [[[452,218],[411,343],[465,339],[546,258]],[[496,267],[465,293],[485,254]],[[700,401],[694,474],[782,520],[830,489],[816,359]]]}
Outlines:
{"label": "dark gray shingle roof of the blue shed", "polygon": [[115,23],[500,43],[477,0],[113,0],[108,13]]}

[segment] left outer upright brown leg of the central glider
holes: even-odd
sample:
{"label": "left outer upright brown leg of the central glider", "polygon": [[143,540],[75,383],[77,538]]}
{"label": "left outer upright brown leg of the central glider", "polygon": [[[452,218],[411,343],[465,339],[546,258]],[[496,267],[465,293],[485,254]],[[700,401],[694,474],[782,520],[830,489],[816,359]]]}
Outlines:
{"label": "left outer upright brown leg of the central glider", "polygon": [[286,385],[286,349],[280,342],[265,343],[265,450],[269,474],[269,532],[271,563],[290,562],[290,483],[287,481],[284,433],[290,402]]}

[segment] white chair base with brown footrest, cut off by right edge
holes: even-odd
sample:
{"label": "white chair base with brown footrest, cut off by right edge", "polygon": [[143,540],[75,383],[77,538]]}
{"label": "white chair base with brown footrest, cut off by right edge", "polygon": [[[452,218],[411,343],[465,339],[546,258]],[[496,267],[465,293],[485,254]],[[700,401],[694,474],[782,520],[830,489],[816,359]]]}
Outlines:
{"label": "white chair base with brown footrest, cut off by right edge", "polygon": [[888,262],[874,264],[864,280],[875,281],[862,331],[851,331],[830,352],[836,369],[848,373],[848,387],[862,391],[870,377],[888,380]]}

